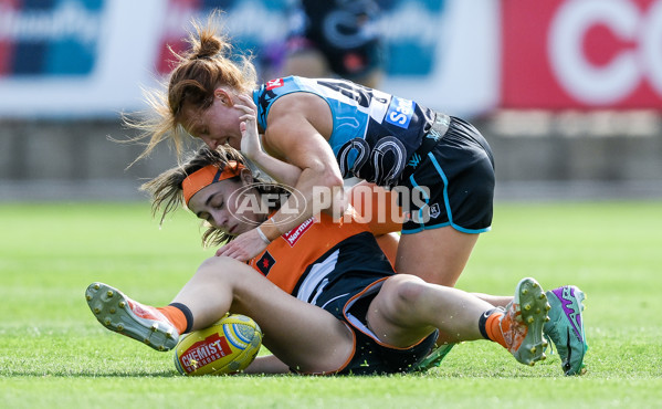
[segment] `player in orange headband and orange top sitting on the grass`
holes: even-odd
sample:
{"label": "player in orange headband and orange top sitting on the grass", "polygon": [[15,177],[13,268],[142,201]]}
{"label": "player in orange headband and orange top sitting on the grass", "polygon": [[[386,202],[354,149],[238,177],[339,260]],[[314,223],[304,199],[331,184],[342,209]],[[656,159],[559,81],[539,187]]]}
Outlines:
{"label": "player in orange headband and orange top sitting on the grass", "polygon": [[[155,213],[162,209],[165,217],[186,203],[209,223],[206,243],[218,244],[273,216],[281,203],[262,199],[283,191],[266,185],[235,151],[204,148],[145,189]],[[406,373],[428,355],[438,332],[453,342],[497,342],[523,364],[544,359],[549,305],[535,280],[522,280],[503,310],[458,289],[395,274],[368,226],[348,214],[344,222],[324,213],[305,221],[271,241],[250,261],[253,268],[227,256],[204,261],[168,306],[140,304],[105,284],[95,291],[118,294],[130,308],[107,318],[116,296],[91,295],[88,303],[107,328],[158,350],[228,312],[248,315],[274,354],[259,357],[248,373]],[[88,294],[96,293],[88,289]],[[117,314],[122,327],[113,321]]]}

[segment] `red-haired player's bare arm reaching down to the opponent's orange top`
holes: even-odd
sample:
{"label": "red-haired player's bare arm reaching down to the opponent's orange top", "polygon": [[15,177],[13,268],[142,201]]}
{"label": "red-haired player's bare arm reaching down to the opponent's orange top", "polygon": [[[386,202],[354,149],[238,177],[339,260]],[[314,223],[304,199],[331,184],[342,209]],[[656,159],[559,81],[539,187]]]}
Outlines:
{"label": "red-haired player's bare arm reaching down to the opponent's orange top", "polygon": [[[273,104],[269,120],[262,143],[274,160],[263,161],[262,166],[279,167],[274,169],[279,174],[275,177],[294,187],[285,204],[259,227],[266,239],[273,241],[319,211],[339,217],[346,203],[340,169],[327,140],[333,118],[326,102],[306,93],[285,95]],[[255,150],[253,154],[262,158]],[[282,162],[298,168],[298,177]],[[253,229],[219,249],[217,255],[246,261],[266,244]]]}

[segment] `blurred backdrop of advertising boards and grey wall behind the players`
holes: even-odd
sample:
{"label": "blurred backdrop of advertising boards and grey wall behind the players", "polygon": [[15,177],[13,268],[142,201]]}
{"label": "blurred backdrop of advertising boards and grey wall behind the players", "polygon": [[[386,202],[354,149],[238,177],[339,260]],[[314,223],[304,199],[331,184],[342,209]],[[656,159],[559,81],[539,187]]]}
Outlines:
{"label": "blurred backdrop of advertising boards and grey wall behind the players", "polygon": [[[379,88],[472,120],[497,200],[662,198],[662,0],[376,4]],[[135,135],[120,114],[146,108],[168,46],[220,8],[266,81],[283,73],[293,6],[0,0],[0,200],[141,200],[174,154],[126,169],[143,147],[111,139]]]}

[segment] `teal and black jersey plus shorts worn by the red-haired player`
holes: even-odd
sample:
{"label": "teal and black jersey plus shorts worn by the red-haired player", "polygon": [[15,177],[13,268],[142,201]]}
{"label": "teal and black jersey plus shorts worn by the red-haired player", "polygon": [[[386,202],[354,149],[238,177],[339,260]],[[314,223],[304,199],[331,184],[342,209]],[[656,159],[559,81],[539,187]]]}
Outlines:
{"label": "teal and black jersey plus shorts worn by the red-haired player", "polygon": [[346,80],[288,76],[253,93],[263,129],[274,101],[296,92],[328,104],[329,145],[344,178],[402,188],[403,234],[445,226],[465,233],[490,230],[494,159],[473,125]]}

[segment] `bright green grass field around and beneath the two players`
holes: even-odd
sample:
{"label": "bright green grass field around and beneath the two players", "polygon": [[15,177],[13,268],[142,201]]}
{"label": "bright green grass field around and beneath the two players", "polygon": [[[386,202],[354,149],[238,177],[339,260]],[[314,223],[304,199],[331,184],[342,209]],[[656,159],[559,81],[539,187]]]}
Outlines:
{"label": "bright green grass field around and beneath the two players", "polygon": [[424,375],[208,377],[104,329],[93,281],[164,305],[212,250],[179,211],[162,229],[147,203],[0,206],[0,407],[651,408],[662,398],[662,202],[501,203],[459,287],[512,293],[523,276],[587,294],[588,374],[558,356],[517,364],[465,343]]}

